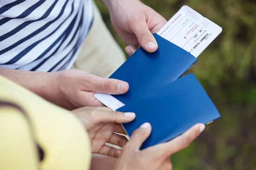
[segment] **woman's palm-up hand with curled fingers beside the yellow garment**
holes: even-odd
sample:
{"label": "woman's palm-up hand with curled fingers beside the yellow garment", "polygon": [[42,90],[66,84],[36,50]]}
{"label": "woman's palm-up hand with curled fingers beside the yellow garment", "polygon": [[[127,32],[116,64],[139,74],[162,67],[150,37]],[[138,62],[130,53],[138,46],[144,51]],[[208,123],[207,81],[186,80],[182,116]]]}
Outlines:
{"label": "woman's palm-up hand with curled fingers beside the yellow garment", "polygon": [[[105,145],[106,142],[123,147],[128,141],[120,123],[128,123],[135,119],[134,113],[112,111],[107,107],[84,107],[72,111],[84,124],[89,134],[92,153],[99,153],[117,158],[121,150]],[[115,132],[115,133],[114,133]]]}

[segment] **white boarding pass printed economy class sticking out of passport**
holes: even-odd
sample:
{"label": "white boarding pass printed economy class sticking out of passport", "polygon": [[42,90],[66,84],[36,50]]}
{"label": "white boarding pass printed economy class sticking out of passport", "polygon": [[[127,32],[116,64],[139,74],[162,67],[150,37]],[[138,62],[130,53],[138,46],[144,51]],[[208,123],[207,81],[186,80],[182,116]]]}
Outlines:
{"label": "white boarding pass printed economy class sticking out of passport", "polygon": [[198,57],[221,31],[217,24],[183,6],[157,34]]}

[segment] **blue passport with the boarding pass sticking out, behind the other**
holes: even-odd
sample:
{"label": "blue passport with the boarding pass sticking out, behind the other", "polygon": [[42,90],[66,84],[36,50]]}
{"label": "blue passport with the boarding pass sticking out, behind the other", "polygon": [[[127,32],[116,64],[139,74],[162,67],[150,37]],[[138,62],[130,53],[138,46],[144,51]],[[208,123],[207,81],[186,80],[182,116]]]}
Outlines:
{"label": "blue passport with the boarding pass sticking out, behind the other", "polygon": [[154,53],[139,48],[109,78],[128,82],[129,90],[112,95],[127,104],[181,77],[197,59],[168,40],[153,34],[158,43]]}

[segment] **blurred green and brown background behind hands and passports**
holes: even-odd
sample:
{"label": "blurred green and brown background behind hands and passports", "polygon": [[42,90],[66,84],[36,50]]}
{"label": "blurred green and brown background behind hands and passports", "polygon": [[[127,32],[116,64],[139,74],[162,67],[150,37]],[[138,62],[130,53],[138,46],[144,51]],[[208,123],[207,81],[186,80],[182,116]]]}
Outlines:
{"label": "blurred green and brown background behind hands and passports", "polygon": [[[223,28],[190,69],[215,103],[221,119],[207,125],[189,148],[172,156],[175,170],[256,170],[256,1],[143,0],[169,20],[190,6]],[[111,33],[108,10],[96,4]]]}

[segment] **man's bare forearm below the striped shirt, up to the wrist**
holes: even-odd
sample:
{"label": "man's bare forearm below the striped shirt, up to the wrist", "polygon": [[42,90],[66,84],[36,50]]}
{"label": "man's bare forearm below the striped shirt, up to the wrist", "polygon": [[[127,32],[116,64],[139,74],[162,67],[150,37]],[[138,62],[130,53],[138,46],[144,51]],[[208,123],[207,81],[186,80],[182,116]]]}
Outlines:
{"label": "man's bare forearm below the striped shirt, up to the wrist", "polygon": [[57,73],[0,68],[0,75],[22,85],[29,91],[54,102],[52,96],[56,95],[57,87],[54,85],[53,80],[57,78]]}

